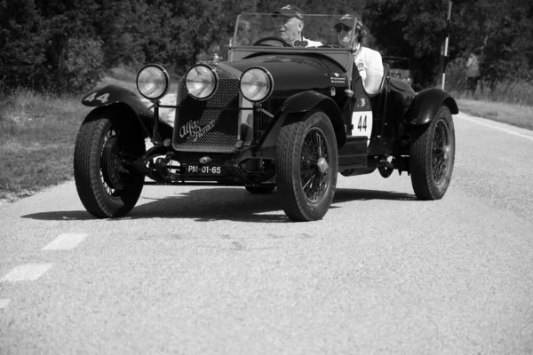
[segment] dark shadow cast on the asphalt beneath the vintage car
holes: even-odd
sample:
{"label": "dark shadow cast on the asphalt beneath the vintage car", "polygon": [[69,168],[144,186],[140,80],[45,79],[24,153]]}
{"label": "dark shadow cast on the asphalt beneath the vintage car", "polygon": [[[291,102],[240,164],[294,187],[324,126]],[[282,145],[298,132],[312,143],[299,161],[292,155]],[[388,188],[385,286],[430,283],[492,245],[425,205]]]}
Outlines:
{"label": "dark shadow cast on the asphalt beneath the vintage car", "polygon": [[[148,201],[147,203],[138,205],[126,217],[107,219],[107,221],[158,217],[193,218],[197,222],[232,220],[288,223],[290,219],[283,212],[279,198],[277,190],[269,194],[252,194],[240,187],[199,188],[163,198],[152,198],[145,195],[141,196],[141,201]],[[338,203],[370,200],[416,201],[417,198],[409,193],[339,188],[335,193],[331,209],[341,208]],[[22,217],[61,221],[98,219],[85,210],[46,211]]]}

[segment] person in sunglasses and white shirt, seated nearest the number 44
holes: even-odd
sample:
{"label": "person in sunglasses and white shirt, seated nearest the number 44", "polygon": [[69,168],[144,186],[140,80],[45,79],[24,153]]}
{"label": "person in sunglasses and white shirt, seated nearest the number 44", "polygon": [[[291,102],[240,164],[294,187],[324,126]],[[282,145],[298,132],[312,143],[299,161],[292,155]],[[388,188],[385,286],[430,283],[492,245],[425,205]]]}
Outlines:
{"label": "person in sunglasses and white shirt, seated nearest the number 44", "polygon": [[373,94],[379,90],[381,79],[383,78],[383,60],[378,51],[364,47],[362,43],[366,40],[366,32],[362,28],[360,21],[356,22],[354,33],[354,15],[346,14],[341,17],[335,25],[338,43],[345,48],[350,48],[352,38],[354,41],[354,62],[362,77],[364,89]]}

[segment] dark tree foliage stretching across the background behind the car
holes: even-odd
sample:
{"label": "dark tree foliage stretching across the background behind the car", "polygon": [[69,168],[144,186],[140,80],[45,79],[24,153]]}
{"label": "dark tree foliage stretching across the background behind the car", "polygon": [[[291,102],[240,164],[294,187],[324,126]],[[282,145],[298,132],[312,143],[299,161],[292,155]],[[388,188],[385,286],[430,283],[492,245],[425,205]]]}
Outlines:
{"label": "dark tree foliage stretching across the background behind the car", "polygon": [[[370,46],[411,60],[415,89],[442,72],[449,0],[298,0],[307,13],[358,12]],[[228,43],[240,12],[272,12],[274,0],[0,0],[0,91],[80,92],[105,68],[157,62],[175,74]],[[481,75],[533,81],[533,2],[453,2],[447,63],[481,49]]]}

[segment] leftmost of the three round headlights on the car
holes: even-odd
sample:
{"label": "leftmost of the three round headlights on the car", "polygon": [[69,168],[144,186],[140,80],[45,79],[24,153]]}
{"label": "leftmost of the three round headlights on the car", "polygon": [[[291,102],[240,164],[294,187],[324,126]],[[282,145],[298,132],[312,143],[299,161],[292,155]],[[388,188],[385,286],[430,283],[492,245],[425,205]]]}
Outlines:
{"label": "leftmost of the three round headlights on the car", "polygon": [[171,87],[171,77],[158,64],[148,64],[139,70],[137,75],[137,89],[147,99],[161,99]]}

